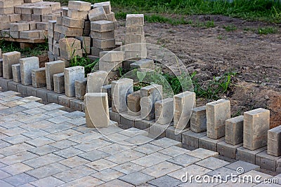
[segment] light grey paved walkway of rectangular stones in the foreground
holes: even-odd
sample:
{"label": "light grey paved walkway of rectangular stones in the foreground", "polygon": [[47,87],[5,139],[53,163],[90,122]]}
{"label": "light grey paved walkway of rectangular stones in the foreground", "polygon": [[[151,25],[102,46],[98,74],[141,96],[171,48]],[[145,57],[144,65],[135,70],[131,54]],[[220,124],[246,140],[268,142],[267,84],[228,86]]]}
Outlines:
{"label": "light grey paved walkway of rectangular stones in the foreground", "polygon": [[[198,148],[188,151],[181,142],[167,138],[141,146],[124,146],[110,139],[134,143],[150,140],[136,129],[103,129],[104,137],[85,125],[84,113],[60,110],[58,104],[41,104],[37,97],[0,92],[0,186],[266,186],[263,179],[279,179],[259,172],[247,162],[226,162],[218,153]],[[226,183],[213,176],[240,174]],[[191,175],[192,183],[186,183]],[[261,176],[246,182],[243,176]],[[244,179],[244,180],[243,180]],[[210,180],[210,182],[207,182]],[[203,182],[203,183],[200,183]],[[259,184],[258,184],[259,183]]]}

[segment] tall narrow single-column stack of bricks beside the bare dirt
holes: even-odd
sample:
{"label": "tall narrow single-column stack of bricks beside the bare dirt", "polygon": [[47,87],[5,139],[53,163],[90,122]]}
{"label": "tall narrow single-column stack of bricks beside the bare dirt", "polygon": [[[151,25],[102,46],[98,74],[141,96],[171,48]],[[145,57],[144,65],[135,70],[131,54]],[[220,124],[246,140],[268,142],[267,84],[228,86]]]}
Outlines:
{"label": "tall narrow single-column stack of bricks beside the bare dirt", "polygon": [[[143,31],[144,15],[126,15],[125,60],[147,57],[145,34]],[[137,44],[133,44],[137,43]]]}

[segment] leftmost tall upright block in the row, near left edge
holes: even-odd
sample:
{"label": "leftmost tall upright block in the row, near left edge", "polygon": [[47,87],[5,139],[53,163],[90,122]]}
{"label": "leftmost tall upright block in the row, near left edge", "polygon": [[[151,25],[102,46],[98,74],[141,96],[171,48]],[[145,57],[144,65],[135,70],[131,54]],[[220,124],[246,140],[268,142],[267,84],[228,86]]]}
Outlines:
{"label": "leftmost tall upright block in the row, near left edge", "polygon": [[13,51],[3,54],[3,77],[7,79],[13,78],[12,65],[20,62],[20,53]]}

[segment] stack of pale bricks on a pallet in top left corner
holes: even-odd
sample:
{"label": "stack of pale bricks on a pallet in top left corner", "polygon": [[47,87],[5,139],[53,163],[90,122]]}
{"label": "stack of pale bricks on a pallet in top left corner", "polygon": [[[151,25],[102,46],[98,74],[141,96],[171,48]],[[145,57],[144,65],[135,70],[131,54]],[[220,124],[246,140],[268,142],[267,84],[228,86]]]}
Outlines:
{"label": "stack of pale bricks on a pallet in top left corner", "polygon": [[1,35],[5,38],[30,41],[32,39],[46,39],[48,20],[55,20],[56,17],[60,16],[60,3],[39,0],[24,2],[0,1],[0,6],[6,7],[2,8],[3,10],[13,10],[11,13],[4,12],[9,15],[0,16]]}

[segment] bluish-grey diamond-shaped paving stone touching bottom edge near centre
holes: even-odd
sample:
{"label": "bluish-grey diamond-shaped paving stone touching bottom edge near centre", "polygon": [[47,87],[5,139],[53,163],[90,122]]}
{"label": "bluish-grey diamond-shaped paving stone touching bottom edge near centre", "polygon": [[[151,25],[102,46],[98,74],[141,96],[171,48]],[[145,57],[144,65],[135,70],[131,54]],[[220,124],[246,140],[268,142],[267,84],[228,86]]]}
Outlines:
{"label": "bluish-grey diamond-shaped paving stone touching bottom edge near centre", "polygon": [[127,183],[131,183],[135,186],[141,185],[142,183],[146,183],[155,179],[153,176],[148,174],[143,174],[141,172],[133,172],[131,174],[127,174],[125,176],[119,177],[120,180],[125,181]]}

